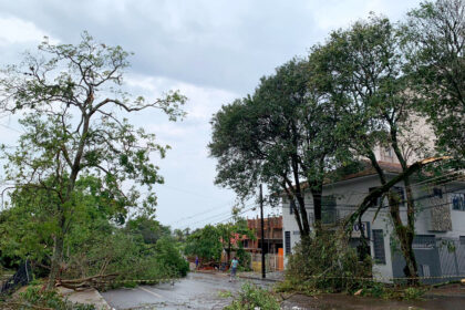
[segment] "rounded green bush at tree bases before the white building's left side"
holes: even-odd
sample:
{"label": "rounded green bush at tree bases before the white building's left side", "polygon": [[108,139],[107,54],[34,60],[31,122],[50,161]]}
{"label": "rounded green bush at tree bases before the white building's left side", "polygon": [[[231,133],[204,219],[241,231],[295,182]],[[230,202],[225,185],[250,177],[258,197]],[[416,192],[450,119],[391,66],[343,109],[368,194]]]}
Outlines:
{"label": "rounded green bush at tree bases before the white building's left side", "polygon": [[359,261],[356,250],[344,234],[321,231],[318,237],[303,239],[289,257],[285,282],[280,290],[303,293],[353,292],[363,287],[359,278],[371,277],[371,259]]}

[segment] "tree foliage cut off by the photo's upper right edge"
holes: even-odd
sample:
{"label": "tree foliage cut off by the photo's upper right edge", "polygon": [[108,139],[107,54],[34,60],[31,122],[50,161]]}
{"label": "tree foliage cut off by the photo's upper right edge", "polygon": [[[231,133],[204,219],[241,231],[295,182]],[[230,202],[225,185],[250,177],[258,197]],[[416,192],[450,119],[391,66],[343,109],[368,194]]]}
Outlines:
{"label": "tree foliage cut off by the photo's upper right edge", "polygon": [[[402,28],[412,92],[442,152],[465,158],[465,1],[424,1]],[[463,163],[462,165],[463,166]]]}

